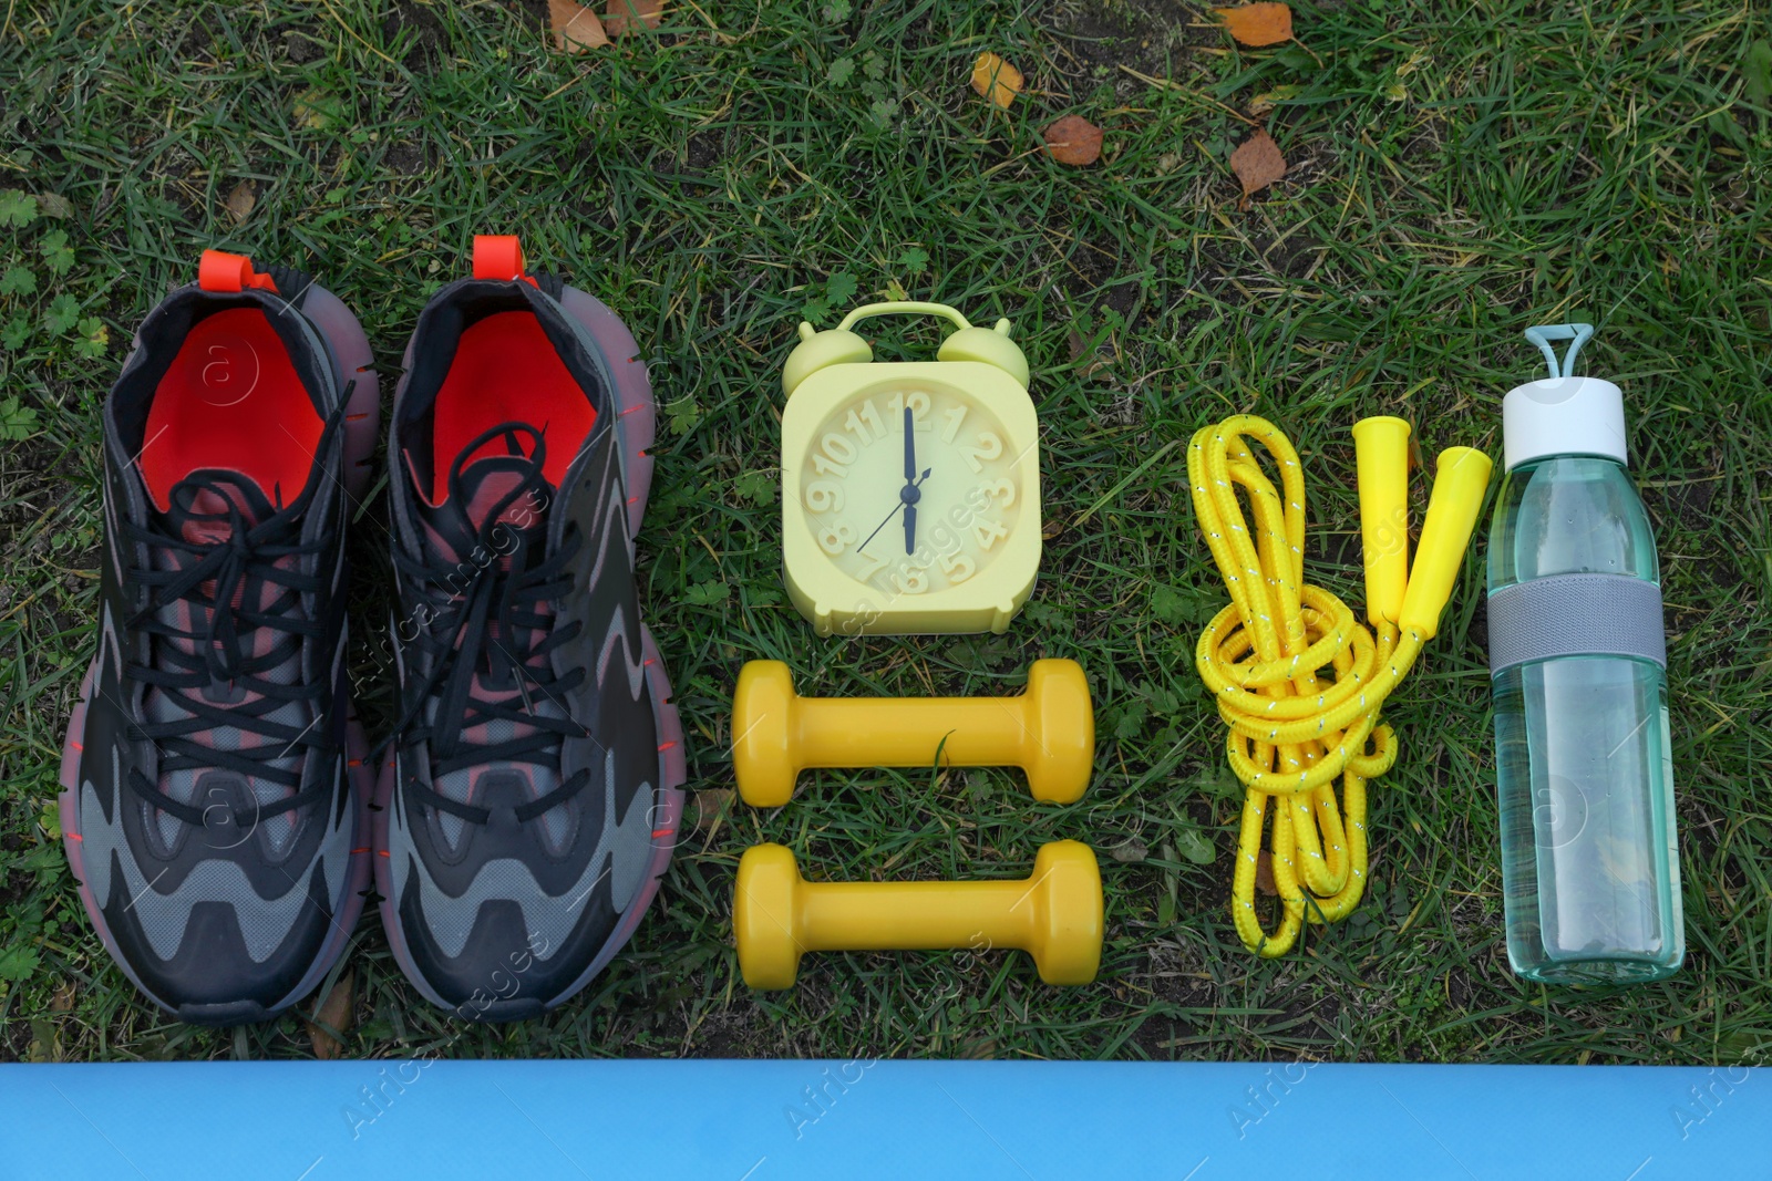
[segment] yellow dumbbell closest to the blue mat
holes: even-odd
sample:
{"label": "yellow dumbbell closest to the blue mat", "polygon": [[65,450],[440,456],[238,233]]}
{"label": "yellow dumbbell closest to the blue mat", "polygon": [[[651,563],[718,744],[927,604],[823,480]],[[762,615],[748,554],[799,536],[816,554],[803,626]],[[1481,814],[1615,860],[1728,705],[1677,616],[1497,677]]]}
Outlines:
{"label": "yellow dumbbell closest to the blue mat", "polygon": [[1019,947],[1047,984],[1088,984],[1102,958],[1102,876],[1077,841],[1042,845],[1014,882],[806,882],[794,853],[757,845],[732,905],[751,988],[790,988],[808,951]]}

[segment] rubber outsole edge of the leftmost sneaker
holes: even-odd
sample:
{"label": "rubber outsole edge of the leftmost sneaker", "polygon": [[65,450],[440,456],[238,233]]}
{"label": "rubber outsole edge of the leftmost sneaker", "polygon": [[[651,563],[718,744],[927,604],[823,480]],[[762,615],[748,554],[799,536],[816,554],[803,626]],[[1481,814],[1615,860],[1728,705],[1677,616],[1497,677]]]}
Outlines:
{"label": "rubber outsole edge of the leftmost sneaker", "polygon": [[[351,388],[351,398],[346,409],[346,490],[353,496],[360,496],[369,485],[367,464],[369,455],[376,446],[376,432],[381,416],[381,381],[374,370],[374,354],[369,349],[369,336],[363,333],[363,326],[358,324],[356,317],[351,315],[351,310],[346,308],[337,296],[317,283],[308,289],[308,297],[303,303],[303,313],[307,313],[321,333],[324,333],[326,343],[333,351],[333,359],[342,370],[340,386],[344,382],[356,381]],[[135,347],[140,347],[140,338],[136,338]],[[73,871],[74,880],[80,884],[80,901],[87,910],[87,917],[92,921],[92,928],[99,933],[105,951],[110,953],[112,961],[117,963],[129,983],[135,984],[144,997],[183,1022],[190,1022],[193,1025],[246,1025],[276,1016],[294,1002],[301,1000],[301,997],[314,992],[321,979],[326,977],[326,972],[331,970],[333,963],[338,961],[338,956],[344,954],[344,949],[351,940],[351,930],[363,914],[365,896],[369,894],[372,857],[369,855],[367,836],[370,832],[369,802],[374,793],[374,783],[372,770],[367,763],[369,740],[363,733],[361,722],[358,722],[356,708],[351,706],[349,698],[340,703],[347,712],[346,784],[356,800],[353,807],[354,827],[351,832],[351,873],[346,876],[344,896],[333,915],[333,930],[321,946],[314,965],[303,974],[296,988],[273,1006],[262,1006],[255,1000],[243,1000],[236,1004],[179,1006],[154,995],[154,992],[142,983],[129,963],[122,958],[117,949],[115,937],[105,922],[105,914],[99,910],[101,903],[94,898],[92,889],[87,885],[85,857],[82,855],[83,838],[80,834],[82,747],[78,735],[83,735],[87,728],[87,708],[92,701],[96,673],[97,657],[94,655],[92,664],[87,666],[87,673],[80,682],[80,698],[74,703],[74,712],[67,721],[67,738],[62,742],[62,790],[57,795],[57,813],[62,825],[62,850],[67,855],[67,866]]]}

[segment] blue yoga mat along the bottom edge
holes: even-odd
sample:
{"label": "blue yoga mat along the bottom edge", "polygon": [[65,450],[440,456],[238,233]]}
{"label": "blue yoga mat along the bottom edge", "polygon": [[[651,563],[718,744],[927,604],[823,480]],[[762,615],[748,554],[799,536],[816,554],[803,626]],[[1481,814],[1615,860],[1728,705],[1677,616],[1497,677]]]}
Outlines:
{"label": "blue yoga mat along the bottom edge", "polygon": [[1745,1068],[0,1066],[0,1177],[1772,1176]]}

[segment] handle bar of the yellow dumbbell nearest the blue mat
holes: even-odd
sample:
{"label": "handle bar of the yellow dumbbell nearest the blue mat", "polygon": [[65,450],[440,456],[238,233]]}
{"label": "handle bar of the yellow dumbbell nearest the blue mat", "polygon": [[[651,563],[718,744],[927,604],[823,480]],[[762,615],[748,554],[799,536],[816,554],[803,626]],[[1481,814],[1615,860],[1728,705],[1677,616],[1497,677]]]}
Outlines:
{"label": "handle bar of the yellow dumbbell nearest the blue mat", "polygon": [[808,882],[794,930],[806,951],[1028,947],[1033,882]]}

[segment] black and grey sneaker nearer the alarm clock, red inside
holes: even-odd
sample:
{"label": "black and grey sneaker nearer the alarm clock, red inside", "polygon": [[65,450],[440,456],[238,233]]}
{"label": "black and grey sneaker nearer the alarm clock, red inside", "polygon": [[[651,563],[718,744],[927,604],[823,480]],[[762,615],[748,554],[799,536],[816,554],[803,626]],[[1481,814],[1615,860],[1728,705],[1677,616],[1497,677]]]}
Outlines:
{"label": "black and grey sneaker nearer the alarm clock, red inside", "polygon": [[376,818],[393,954],[466,1018],[583,988],[670,862],[682,731],[634,593],[652,430],[627,328],[475,239],[393,400],[402,719]]}

